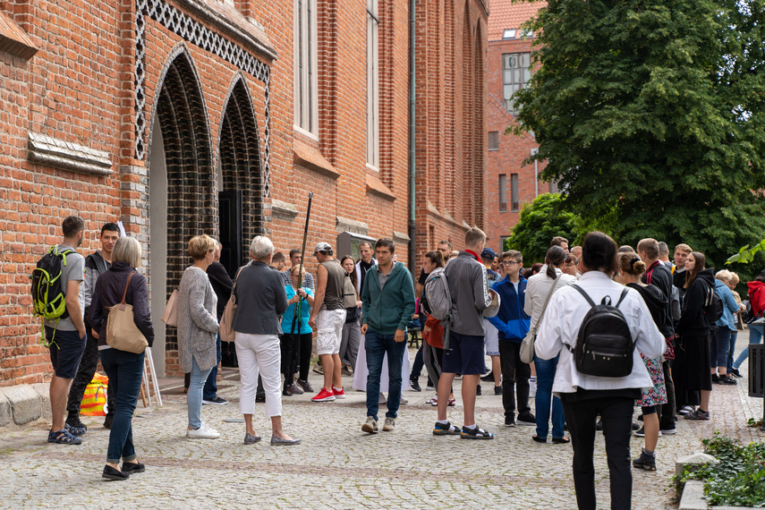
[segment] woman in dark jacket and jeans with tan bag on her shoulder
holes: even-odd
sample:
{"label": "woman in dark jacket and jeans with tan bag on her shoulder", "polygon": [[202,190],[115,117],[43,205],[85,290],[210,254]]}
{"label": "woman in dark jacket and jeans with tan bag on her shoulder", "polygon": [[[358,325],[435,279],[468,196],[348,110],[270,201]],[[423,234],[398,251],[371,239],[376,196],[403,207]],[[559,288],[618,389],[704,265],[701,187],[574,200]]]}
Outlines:
{"label": "woman in dark jacket and jeans with tan bag on her shoulder", "polygon": [[[109,310],[123,301],[123,295],[125,303],[132,305],[133,321],[146,337],[149,347],[154,343],[146,277],[136,272],[138,267],[140,242],[134,237],[119,238],[112,251],[112,266],[98,276],[90,304],[90,324],[98,331],[101,364],[109,378],[109,386],[115,389],[115,418],[109,431],[106,466],[102,474],[108,480],[126,480],[131,473],[146,469],[138,462],[132,442],[132,414],[138,403],[145,352],[128,353],[106,344]],[[119,467],[121,458],[122,469]]]}

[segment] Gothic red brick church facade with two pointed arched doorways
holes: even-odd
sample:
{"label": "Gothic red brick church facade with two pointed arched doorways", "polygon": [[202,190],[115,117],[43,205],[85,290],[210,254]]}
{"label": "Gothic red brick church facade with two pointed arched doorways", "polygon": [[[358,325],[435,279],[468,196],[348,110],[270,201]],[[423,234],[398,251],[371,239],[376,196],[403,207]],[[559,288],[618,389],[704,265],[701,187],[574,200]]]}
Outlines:
{"label": "Gothic red brick church facade with two pointed arched doorways", "polygon": [[[391,236],[419,266],[460,247],[486,223],[487,17],[485,0],[0,0],[0,386],[49,377],[28,275],[71,214],[82,254],[107,221],[140,240],[155,318],[192,235],[220,236],[230,271],[256,234],[289,251],[309,191],[309,249]],[[154,325],[157,372],[177,375],[174,328]]]}

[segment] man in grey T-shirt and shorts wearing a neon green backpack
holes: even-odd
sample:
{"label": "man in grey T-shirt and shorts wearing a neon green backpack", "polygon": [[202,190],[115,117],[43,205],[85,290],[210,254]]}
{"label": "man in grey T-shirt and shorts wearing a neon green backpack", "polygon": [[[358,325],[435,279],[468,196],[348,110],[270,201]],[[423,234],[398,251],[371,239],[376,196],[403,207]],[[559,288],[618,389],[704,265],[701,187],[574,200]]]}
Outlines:
{"label": "man in grey T-shirt and shorts wearing a neon green backpack", "polygon": [[81,285],[85,259],[76,251],[82,243],[85,221],[70,216],[61,226],[64,242],[51,247],[32,271],[32,304],[34,314],[43,318],[44,340],[54,369],[50,381],[53,426],[47,442],[79,445],[82,439],[65,425],[64,411],[87,338],[83,319],[85,293]]}

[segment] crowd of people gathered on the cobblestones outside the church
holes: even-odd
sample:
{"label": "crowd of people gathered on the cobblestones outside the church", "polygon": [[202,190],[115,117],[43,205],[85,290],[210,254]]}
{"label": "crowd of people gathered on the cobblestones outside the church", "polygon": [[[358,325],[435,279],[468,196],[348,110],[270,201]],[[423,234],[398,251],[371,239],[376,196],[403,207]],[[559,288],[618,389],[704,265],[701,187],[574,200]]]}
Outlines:
{"label": "crowd of people gathered on the cobblestones outside the church", "polygon": [[[79,418],[79,402],[100,358],[109,378],[105,426],[111,428],[103,476],[124,480],[145,469],[137,460],[131,424],[144,353],[112,348],[106,324],[112,307],[123,300],[132,305],[135,324],[149,346],[153,343],[147,281],[136,271],[140,243],[120,236],[118,226],[109,223],[101,229],[101,250],[86,259],[76,252],[82,219],[67,217],[63,230],[64,241],[56,250],[68,251],[62,273],[68,317],[45,323],[55,370],[48,441],[81,443],[87,427]],[[738,276],[727,270],[715,273],[702,253],[684,243],[676,246],[671,262],[664,242],[647,238],[617,248],[598,232],[570,251],[565,238],[553,238],[543,263],[530,268],[523,268],[520,251],[497,254],[487,247],[478,228],[467,231],[463,245],[463,251],[453,251],[451,242],[443,241],[425,253],[414,285],[409,270],[395,260],[391,239],[361,242],[359,259],[336,258],[331,244],[319,242],[312,252],[318,263],[313,276],[303,268],[300,250],[293,249],[287,258],[259,235],[251,242],[251,261],[232,279],[218,261],[220,243],[205,234],[194,236],[188,246],[193,264],[183,272],[177,293],[178,353],[189,374],[187,438],[220,437],[202,420],[202,406],[227,404],[217,395],[216,378],[220,322],[233,296],[230,326],[242,380],[245,444],[261,440],[252,417],[256,402],[265,402],[272,445],[299,444],[301,439],[282,428],[282,398],[315,393],[315,403],[343,399],[343,375],[353,375],[353,387],[366,391],[361,430],[394,431],[404,381],[421,391],[424,368],[427,387],[436,390],[428,401],[438,409],[434,435],[494,438],[475,419],[483,378],[493,383],[495,395],[502,395],[506,427],[532,426],[535,442],[549,438],[552,444],[573,446],[574,485],[582,508],[595,506],[592,452],[595,430],[602,429],[612,506],[629,507],[633,432],[644,438],[633,466],[655,471],[658,439],[676,433],[676,417],[710,420],[713,384],[734,385],[741,377],[747,351],[734,361],[734,350],[747,306],[735,292]],[[433,284],[439,277],[446,285],[446,313]],[[755,319],[748,325],[750,342],[756,344],[762,338],[763,319],[757,318],[765,310],[765,271],[747,286]],[[590,375],[579,364],[582,321],[599,306],[617,310],[629,329],[633,363],[627,375]],[[722,310],[716,313],[716,308]],[[436,319],[436,310],[446,319]],[[412,326],[421,328],[424,342],[410,370],[407,337]],[[318,391],[308,382],[314,333],[320,360],[315,370],[323,375]],[[532,359],[524,362],[523,345],[530,338],[535,340]],[[462,379],[461,425],[447,416],[455,405],[456,378]],[[387,411],[378,423],[381,405]],[[633,422],[635,407],[641,410],[642,426]]]}

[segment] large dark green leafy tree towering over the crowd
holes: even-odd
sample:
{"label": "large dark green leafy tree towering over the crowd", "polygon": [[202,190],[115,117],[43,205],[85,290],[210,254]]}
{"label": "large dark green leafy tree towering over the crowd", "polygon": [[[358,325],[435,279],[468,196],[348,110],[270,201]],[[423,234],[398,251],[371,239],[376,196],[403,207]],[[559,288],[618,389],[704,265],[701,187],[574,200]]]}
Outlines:
{"label": "large dark green leafy tree towering over the crowd", "polygon": [[534,133],[584,224],[616,209],[619,242],[722,267],[765,237],[763,21],[761,0],[548,0],[508,131]]}

